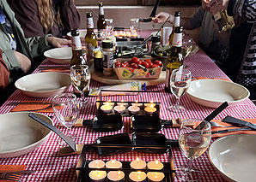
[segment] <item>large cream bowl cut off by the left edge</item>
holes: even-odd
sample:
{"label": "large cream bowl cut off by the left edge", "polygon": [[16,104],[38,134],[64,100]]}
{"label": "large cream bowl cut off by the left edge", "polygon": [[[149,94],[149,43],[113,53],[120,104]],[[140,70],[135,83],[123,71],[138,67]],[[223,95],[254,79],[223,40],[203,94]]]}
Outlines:
{"label": "large cream bowl cut off by the left edge", "polygon": [[[52,131],[28,117],[29,112],[0,114],[0,158],[27,154],[49,138]],[[53,125],[44,114],[34,113]]]}

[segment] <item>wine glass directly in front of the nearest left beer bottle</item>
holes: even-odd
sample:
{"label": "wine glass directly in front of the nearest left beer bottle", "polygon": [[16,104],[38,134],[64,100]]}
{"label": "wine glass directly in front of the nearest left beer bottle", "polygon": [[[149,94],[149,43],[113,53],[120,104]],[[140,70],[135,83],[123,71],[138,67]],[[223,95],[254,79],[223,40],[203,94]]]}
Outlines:
{"label": "wine glass directly in front of the nearest left beer bottle", "polygon": [[88,106],[88,99],[84,96],[84,92],[89,90],[89,83],[91,79],[91,74],[89,72],[87,65],[73,65],[70,68],[70,78],[72,85],[81,94],[81,107]]}

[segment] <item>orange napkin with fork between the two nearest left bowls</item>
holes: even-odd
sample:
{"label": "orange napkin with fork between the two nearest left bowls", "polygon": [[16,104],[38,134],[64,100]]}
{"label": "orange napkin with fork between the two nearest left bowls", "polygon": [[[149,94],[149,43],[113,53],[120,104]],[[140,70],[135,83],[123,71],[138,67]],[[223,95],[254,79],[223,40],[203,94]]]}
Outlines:
{"label": "orange napkin with fork between the two nearest left bowls", "polygon": [[53,113],[52,107],[50,107],[52,102],[44,102],[44,104],[36,104],[36,103],[42,103],[42,101],[21,101],[21,103],[18,103],[15,106],[15,108],[12,109],[11,111],[12,112],[34,111],[34,112],[42,112],[42,113]]}

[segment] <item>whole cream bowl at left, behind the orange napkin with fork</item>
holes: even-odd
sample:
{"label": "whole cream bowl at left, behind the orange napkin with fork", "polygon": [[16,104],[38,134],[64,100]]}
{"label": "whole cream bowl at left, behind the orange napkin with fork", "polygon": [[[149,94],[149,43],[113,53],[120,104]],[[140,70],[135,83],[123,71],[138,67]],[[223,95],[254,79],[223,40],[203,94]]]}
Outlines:
{"label": "whole cream bowl at left, behind the orange napkin with fork", "polygon": [[71,85],[67,73],[33,73],[15,81],[15,87],[29,97],[54,97]]}

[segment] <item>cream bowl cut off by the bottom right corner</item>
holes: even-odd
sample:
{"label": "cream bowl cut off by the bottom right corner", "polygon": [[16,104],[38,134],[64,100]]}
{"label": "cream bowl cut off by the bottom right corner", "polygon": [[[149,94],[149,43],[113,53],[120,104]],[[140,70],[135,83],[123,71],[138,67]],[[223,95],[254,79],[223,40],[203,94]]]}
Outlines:
{"label": "cream bowl cut off by the bottom right corner", "polygon": [[256,135],[235,134],[210,145],[211,164],[228,181],[255,181]]}

